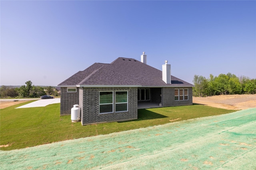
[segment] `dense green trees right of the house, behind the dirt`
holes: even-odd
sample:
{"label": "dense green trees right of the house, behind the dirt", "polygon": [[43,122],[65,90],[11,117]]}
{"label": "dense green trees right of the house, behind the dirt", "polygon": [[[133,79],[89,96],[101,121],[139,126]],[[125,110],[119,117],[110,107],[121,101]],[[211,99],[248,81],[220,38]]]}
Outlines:
{"label": "dense green trees right of the house, behind the dirt", "polygon": [[227,94],[256,94],[256,79],[235,74],[219,74],[210,78],[194,75],[193,96],[205,97]]}

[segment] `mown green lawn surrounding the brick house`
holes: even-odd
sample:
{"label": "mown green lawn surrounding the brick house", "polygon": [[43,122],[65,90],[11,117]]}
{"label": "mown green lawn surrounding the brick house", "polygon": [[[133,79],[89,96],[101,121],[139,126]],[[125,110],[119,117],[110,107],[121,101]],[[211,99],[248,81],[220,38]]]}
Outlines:
{"label": "mown green lawn surrounding the brick house", "polygon": [[203,105],[139,109],[138,119],[134,121],[82,126],[81,123],[72,123],[70,115],[60,117],[60,104],[15,109],[30,102],[33,101],[0,109],[0,145],[8,145],[1,147],[1,150],[22,149],[236,111]]}

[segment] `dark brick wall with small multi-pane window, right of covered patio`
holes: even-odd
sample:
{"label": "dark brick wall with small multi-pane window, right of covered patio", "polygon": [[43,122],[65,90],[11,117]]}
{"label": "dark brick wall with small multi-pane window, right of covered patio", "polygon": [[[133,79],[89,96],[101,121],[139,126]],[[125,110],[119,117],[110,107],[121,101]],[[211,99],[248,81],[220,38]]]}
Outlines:
{"label": "dark brick wall with small multi-pane window, right of covered patio", "polygon": [[[175,89],[188,89],[188,100],[175,101],[174,90]],[[180,105],[192,105],[192,87],[163,87],[162,88],[162,106],[180,106]]]}

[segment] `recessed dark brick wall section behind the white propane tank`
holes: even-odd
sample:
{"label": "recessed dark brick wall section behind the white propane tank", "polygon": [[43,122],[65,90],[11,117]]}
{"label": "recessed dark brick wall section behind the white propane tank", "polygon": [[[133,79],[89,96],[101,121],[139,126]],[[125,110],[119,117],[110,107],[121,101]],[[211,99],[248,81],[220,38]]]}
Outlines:
{"label": "recessed dark brick wall section behind the white propane tank", "polygon": [[67,92],[66,87],[60,88],[60,115],[71,114],[71,108],[74,104],[79,104],[79,88],[76,88],[76,92]]}

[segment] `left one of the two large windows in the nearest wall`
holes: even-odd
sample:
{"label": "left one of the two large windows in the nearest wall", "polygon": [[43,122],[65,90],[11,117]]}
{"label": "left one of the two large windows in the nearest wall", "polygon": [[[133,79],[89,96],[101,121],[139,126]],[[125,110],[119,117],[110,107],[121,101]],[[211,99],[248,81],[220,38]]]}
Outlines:
{"label": "left one of the two large windows in the nearest wall", "polygon": [[113,92],[100,92],[100,113],[113,112]]}

